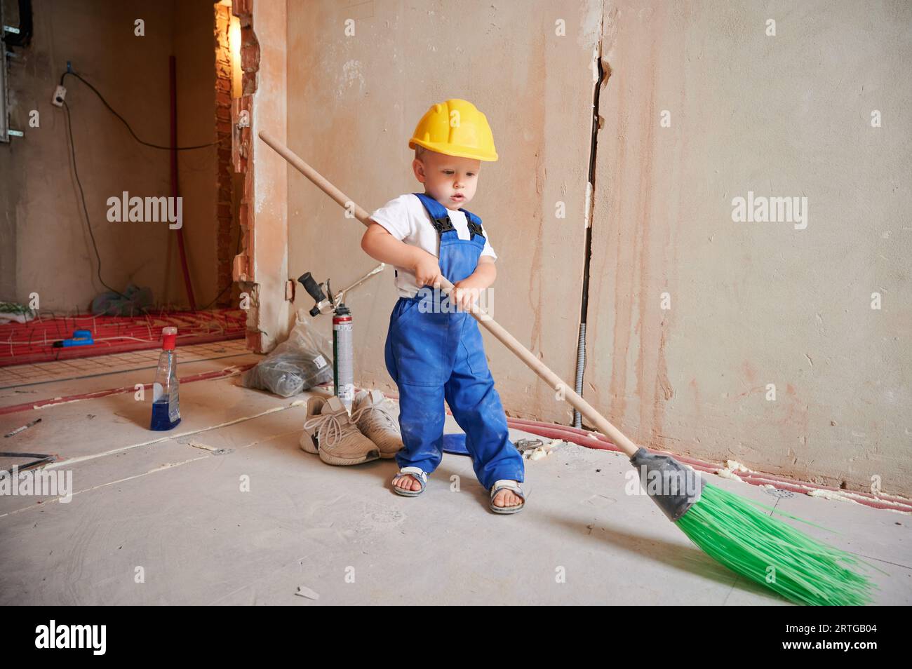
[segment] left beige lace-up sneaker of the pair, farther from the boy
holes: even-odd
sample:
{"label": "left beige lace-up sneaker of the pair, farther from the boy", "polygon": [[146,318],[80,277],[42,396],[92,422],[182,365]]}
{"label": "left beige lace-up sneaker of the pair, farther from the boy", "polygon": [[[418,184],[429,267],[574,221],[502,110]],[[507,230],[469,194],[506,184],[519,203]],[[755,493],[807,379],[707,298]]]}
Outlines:
{"label": "left beige lace-up sneaker of the pair, farther from the boy", "polygon": [[358,465],[380,457],[377,447],[358,431],[335,395],[307,400],[307,419],[299,443],[327,465]]}

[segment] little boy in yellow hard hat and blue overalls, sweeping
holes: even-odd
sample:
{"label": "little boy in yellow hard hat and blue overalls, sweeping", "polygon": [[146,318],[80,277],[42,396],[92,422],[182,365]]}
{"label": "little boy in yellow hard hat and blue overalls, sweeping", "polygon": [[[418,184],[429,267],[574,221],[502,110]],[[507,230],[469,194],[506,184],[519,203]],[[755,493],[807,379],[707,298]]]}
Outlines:
{"label": "little boy in yellow hard hat and blue overalls, sweeping", "polygon": [[[523,458],[510,442],[482,333],[469,314],[497,276],[497,255],[482,220],[462,209],[475,194],[480,161],[497,160],[491,128],[471,102],[450,99],[421,118],[409,149],[424,192],[374,211],[361,240],[368,255],[396,268],[399,301],[385,351],[399,387],[403,443],[393,489],[420,495],[440,464],[446,399],[466,434],[475,476],[491,491],[492,511],[515,513],[525,503]],[[441,276],[454,285],[452,301],[439,290]]]}

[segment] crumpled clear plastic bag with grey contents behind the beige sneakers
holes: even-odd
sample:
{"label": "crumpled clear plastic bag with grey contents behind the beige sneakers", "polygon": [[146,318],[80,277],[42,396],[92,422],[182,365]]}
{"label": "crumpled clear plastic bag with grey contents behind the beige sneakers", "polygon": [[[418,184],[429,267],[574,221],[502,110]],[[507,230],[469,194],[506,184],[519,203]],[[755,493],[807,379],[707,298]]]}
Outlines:
{"label": "crumpled clear plastic bag with grey contents behind the beige sneakers", "polygon": [[244,372],[244,386],[290,397],[333,380],[332,345],[299,311],[288,338],[265,359]]}

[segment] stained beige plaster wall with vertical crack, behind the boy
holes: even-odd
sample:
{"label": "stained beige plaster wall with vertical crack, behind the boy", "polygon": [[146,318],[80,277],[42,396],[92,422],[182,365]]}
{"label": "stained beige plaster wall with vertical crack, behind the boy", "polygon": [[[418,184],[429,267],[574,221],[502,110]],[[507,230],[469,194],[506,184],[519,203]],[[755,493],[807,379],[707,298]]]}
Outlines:
{"label": "stained beige plaster wall with vertical crack, behind the boy", "polygon": [[[488,115],[501,160],[483,165],[470,209],[500,255],[494,317],[570,383],[601,58],[586,399],[651,448],[912,492],[909,5],[287,7],[288,143],[368,211],[418,189],[407,141],[431,103],[467,98]],[[358,221],[288,179],[289,275],[339,288],[373,268]],[[749,192],[806,198],[806,227],[733,221]],[[362,385],[394,387],[382,352],[395,300],[389,268],[348,301]],[[569,422],[485,342],[511,416]]]}

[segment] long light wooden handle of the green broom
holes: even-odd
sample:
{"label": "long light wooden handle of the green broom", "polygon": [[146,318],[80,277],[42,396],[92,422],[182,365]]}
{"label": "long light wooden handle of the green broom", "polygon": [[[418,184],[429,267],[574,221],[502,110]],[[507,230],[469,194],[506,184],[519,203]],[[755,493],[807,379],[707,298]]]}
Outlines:
{"label": "long light wooden handle of the green broom", "polygon": [[[291,149],[288,149],[288,147],[265,130],[260,130],[259,136],[260,139],[263,139],[263,141],[269,145],[269,147],[287,160],[288,164],[295,168],[295,170],[301,172],[307,179],[313,181],[320,190],[323,190],[326,195],[337,201],[339,205],[346,209],[354,209],[355,217],[358,218],[358,221],[361,221],[366,226],[370,225],[370,214],[368,214],[367,211],[361,209],[355,201],[349,198],[341,190],[338,190],[332,183],[326,180],[326,177],[310,167],[310,165],[302,160],[300,156],[297,156]],[[450,296],[453,284],[450,283],[445,276],[441,276],[440,278],[442,279],[440,288],[443,290],[444,294]],[[575,409],[585,416],[590,423],[596,426],[599,432],[609,437],[617,448],[620,448],[627,453],[627,456],[633,456],[638,448],[637,445],[630,441],[630,439],[617,429],[617,427],[611,425],[606,417],[599,414],[585,399],[577,395],[573,388],[567,386],[559,376],[554,374],[554,372],[544,365],[541,360],[535,357],[532,351],[520,344],[513,334],[504,330],[503,326],[498,324],[491,315],[480,308],[478,304],[472,304],[472,311],[470,313],[476,321],[487,328],[488,332],[497,337],[504,346],[513,351],[513,354],[519,357],[519,359],[535,374],[541,377],[548,386],[554,388],[554,390],[560,393],[570,405],[575,407]]]}

